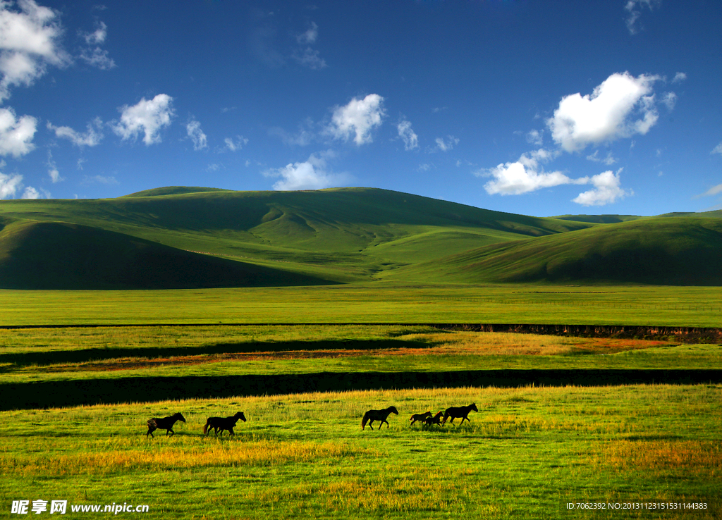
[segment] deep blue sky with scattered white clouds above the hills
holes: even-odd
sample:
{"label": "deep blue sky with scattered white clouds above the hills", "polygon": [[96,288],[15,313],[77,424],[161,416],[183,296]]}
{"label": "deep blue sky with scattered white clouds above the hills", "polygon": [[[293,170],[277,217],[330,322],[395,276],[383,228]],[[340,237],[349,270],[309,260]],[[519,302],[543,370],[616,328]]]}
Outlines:
{"label": "deep blue sky with scattered white clouds above the hills", "polygon": [[0,198],[722,208],[722,3],[0,1]]}

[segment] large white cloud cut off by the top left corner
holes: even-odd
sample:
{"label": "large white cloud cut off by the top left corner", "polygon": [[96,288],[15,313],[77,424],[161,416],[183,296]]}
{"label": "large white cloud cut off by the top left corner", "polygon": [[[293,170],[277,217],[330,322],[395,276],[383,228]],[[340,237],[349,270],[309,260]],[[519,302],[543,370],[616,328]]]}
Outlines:
{"label": "large white cloud cut off by the top left corner", "polygon": [[43,76],[48,64],[69,63],[58,43],[61,34],[52,9],[34,0],[0,1],[0,101],[9,97],[10,87],[27,87]]}

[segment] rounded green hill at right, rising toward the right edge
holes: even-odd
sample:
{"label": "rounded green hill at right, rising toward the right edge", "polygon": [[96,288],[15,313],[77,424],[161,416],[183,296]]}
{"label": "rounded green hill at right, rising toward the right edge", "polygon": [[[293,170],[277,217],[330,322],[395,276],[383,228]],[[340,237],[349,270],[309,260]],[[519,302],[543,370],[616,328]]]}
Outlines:
{"label": "rounded green hill at right, rising toward the right edge", "polygon": [[680,217],[494,244],[391,279],[722,285],[722,220]]}

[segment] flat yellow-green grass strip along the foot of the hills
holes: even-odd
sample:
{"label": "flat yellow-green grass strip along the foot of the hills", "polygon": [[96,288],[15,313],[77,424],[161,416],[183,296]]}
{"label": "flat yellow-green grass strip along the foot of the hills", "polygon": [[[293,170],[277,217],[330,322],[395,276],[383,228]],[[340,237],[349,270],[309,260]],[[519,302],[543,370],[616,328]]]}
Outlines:
{"label": "flat yellow-green grass strip along the foot of the hills", "polygon": [[349,284],[177,291],[4,291],[0,326],[529,323],[720,327],[714,287]]}

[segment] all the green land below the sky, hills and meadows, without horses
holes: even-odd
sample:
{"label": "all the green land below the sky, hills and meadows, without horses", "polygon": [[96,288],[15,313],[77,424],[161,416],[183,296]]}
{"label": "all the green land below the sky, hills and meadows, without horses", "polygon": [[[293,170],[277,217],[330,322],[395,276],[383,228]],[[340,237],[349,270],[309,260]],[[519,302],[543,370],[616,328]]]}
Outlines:
{"label": "all the green land below the sky, hills and meadows, without horses", "polygon": [[[1,201],[0,507],[719,518],[713,213],[541,219],[365,188]],[[557,335],[498,332],[521,325]],[[471,402],[471,423],[409,426]],[[201,434],[238,411],[234,438]]]}

